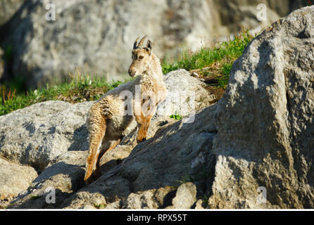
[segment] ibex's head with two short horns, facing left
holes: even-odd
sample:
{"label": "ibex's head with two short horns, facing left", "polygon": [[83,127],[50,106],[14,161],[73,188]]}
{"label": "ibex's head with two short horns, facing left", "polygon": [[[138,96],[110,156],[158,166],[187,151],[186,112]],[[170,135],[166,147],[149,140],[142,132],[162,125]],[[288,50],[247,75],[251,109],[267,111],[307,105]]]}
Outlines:
{"label": "ibex's head with two short horns, facing left", "polygon": [[[142,75],[149,66],[149,62],[151,60],[152,43],[150,40],[148,40],[146,47],[143,48],[144,40],[146,39],[146,37],[147,35],[145,35],[141,39],[141,41],[139,41],[139,37],[137,37],[137,39],[134,41],[132,50],[132,63],[128,70],[131,77],[137,77],[139,75]],[[138,44],[137,41],[139,41]]]}

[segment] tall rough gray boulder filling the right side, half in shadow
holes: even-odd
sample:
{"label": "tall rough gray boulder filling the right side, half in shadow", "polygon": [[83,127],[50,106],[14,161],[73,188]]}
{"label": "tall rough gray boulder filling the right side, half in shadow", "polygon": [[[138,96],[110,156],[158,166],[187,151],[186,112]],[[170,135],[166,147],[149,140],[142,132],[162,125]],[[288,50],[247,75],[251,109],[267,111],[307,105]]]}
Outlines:
{"label": "tall rough gray boulder filling the right side, half in shadow", "polygon": [[210,207],[314,207],[313,18],[310,6],[278,20],[232,66]]}

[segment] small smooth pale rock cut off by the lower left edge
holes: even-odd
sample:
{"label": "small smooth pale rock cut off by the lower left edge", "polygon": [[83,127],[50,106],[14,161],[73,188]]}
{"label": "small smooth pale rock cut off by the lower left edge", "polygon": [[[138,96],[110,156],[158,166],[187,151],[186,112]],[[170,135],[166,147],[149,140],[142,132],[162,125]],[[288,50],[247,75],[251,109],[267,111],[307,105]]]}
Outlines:
{"label": "small smooth pale rock cut off by the lower left edge", "polygon": [[36,178],[32,167],[16,165],[0,158],[0,200],[13,200]]}

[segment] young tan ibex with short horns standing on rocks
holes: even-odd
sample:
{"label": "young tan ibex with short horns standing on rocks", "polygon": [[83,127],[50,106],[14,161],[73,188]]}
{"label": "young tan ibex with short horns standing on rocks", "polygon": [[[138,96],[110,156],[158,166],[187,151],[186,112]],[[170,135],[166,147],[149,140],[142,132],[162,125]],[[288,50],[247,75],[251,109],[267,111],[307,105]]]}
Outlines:
{"label": "young tan ibex with short horns standing on rocks", "polygon": [[[139,126],[137,141],[146,139],[151,117],[156,113],[157,105],[165,100],[167,89],[163,82],[161,63],[151,53],[150,40],[143,48],[145,38],[146,35],[138,44],[139,37],[134,41],[132,63],[128,70],[131,77],[138,77],[109,91],[89,109],[87,114],[89,155],[84,176],[86,184],[101,176],[100,160],[103,154],[115,148],[123,137],[135,131],[137,126]],[[121,94],[128,92],[130,96],[137,96],[139,89],[141,96],[132,98],[130,105],[125,105],[125,95],[121,98]],[[147,93],[150,93],[149,96]],[[149,113],[146,113],[145,105]],[[125,114],[121,109],[128,110],[128,113]]]}

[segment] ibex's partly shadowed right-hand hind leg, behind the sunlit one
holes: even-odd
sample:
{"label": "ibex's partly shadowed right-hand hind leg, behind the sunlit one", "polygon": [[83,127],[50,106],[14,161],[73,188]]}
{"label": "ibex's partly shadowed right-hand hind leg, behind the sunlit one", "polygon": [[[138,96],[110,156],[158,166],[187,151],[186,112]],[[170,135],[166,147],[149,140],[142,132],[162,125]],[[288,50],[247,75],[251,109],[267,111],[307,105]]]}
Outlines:
{"label": "ibex's partly shadowed right-hand hind leg, behind the sunlit one", "polygon": [[109,150],[112,150],[115,148],[115,146],[118,146],[120,143],[122,137],[117,137],[117,138],[111,138],[111,137],[104,137],[102,144],[101,144],[101,149],[99,150],[97,156],[96,156],[96,169],[93,173],[93,178],[94,180],[99,179],[101,176],[101,167],[100,167],[100,161],[103,155],[108,152]]}

